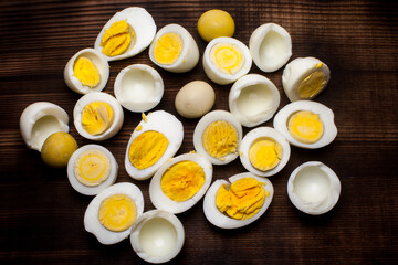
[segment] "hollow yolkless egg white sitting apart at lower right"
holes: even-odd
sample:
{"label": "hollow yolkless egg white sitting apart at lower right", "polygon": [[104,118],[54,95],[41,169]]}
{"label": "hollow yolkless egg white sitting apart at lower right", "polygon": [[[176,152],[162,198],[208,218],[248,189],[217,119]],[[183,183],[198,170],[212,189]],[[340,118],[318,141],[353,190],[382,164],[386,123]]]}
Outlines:
{"label": "hollow yolkless egg white sitting apart at lower right", "polygon": [[287,194],[293,205],[313,215],[332,210],[338,201],[341,189],[337,174],[318,161],[298,166],[287,181]]}

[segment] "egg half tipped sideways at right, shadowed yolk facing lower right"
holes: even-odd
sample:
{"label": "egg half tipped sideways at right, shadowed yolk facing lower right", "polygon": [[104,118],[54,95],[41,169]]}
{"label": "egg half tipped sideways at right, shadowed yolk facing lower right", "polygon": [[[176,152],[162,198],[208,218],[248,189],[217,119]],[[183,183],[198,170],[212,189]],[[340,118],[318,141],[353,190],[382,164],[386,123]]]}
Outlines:
{"label": "egg half tipped sideways at right, shadowed yolk facing lower right", "polygon": [[283,89],[291,102],[313,99],[331,80],[328,66],[315,57],[298,57],[283,71]]}

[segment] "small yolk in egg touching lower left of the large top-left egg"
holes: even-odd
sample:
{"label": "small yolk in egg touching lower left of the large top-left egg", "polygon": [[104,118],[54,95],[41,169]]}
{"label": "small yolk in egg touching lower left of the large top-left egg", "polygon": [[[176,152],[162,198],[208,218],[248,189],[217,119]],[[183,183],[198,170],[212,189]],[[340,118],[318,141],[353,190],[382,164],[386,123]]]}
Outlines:
{"label": "small yolk in egg touching lower left of the large top-left egg", "polygon": [[96,87],[100,83],[101,75],[95,64],[87,57],[78,57],[73,65],[73,73],[82,85],[91,88]]}

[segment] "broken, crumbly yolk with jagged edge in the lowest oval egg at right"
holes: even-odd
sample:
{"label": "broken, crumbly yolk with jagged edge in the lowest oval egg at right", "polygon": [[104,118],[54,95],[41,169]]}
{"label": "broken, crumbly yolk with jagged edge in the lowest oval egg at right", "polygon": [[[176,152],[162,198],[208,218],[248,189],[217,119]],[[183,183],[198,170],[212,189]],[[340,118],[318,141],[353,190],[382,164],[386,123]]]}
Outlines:
{"label": "broken, crumbly yolk with jagged edge in the lowest oval egg at right", "polygon": [[229,189],[221,186],[216,194],[216,205],[220,212],[232,219],[250,219],[261,210],[269,195],[263,184],[254,178],[242,178],[233,182]]}

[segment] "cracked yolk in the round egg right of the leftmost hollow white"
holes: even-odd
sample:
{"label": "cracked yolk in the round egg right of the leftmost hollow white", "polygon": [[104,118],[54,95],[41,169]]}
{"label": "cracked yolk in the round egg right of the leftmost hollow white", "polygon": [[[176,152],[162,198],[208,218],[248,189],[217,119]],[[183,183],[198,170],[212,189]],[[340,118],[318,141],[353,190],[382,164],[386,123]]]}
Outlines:
{"label": "cracked yolk in the round egg right of the leftmost hollow white", "polygon": [[82,112],[82,126],[90,135],[106,131],[114,119],[113,108],[105,102],[92,102]]}

